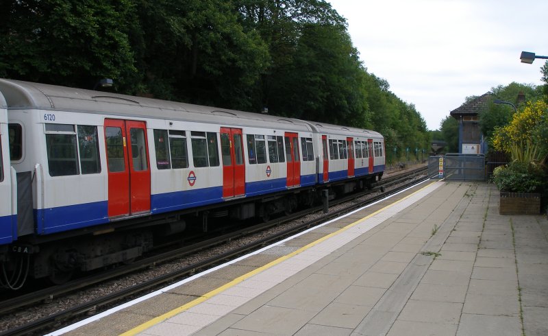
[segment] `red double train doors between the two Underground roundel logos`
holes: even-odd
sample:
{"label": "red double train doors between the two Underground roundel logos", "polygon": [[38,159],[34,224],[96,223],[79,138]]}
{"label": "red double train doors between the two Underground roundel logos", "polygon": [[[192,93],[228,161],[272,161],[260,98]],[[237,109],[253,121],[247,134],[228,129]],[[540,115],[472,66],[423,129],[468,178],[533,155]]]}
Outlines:
{"label": "red double train doors between the two Underground roundel logos", "polygon": [[221,128],[223,154],[223,197],[245,194],[245,165],[242,130]]}

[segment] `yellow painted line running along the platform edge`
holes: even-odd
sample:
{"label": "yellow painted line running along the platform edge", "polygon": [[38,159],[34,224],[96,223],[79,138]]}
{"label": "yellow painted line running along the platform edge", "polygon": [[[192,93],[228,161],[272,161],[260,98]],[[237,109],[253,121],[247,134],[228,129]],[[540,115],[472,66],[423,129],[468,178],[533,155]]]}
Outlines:
{"label": "yellow painted line running along the platform edge", "polygon": [[362,219],[358,219],[357,221],[354,221],[353,223],[348,224],[347,226],[345,226],[343,228],[340,228],[339,230],[336,230],[335,232],[329,233],[329,235],[325,235],[324,237],[321,237],[320,239],[318,239],[316,241],[312,241],[312,243],[308,243],[307,245],[304,245],[302,248],[299,248],[299,250],[295,250],[294,252],[291,252],[290,254],[286,254],[285,256],[280,256],[278,259],[276,259],[274,261],[271,261],[270,263],[267,263],[266,265],[263,265],[263,266],[258,267],[256,269],[253,269],[253,271],[248,272],[246,274],[243,274],[242,276],[238,276],[238,278],[235,278],[234,280],[230,281],[229,283],[226,283],[225,285],[223,285],[221,287],[213,289],[212,291],[209,291],[208,293],[203,294],[203,296],[200,296],[199,298],[196,298],[195,300],[192,300],[192,301],[182,305],[181,307],[177,307],[177,308],[175,308],[171,311],[168,311],[167,313],[164,313],[164,314],[162,314],[158,317],[154,317],[152,320],[149,320],[149,321],[147,321],[143,324],[140,324],[139,326],[136,326],[135,328],[132,328],[129,331],[126,331],[125,333],[122,333],[121,336],[136,335],[136,334],[138,334],[142,331],[147,330],[148,328],[151,328],[152,326],[155,326],[156,324],[159,324],[160,322],[164,322],[165,320],[168,320],[169,318],[171,318],[175,315],[178,315],[179,313],[182,313],[182,312],[186,311],[187,309],[195,307],[198,304],[200,304],[201,302],[204,302],[204,301],[208,300],[209,298],[212,298],[213,296],[216,296],[217,294],[219,294],[219,293],[221,293],[221,292],[223,292],[223,291],[225,291],[225,290],[227,290],[231,287],[234,287],[235,285],[238,285],[238,283],[241,283],[242,281],[247,280],[248,278],[251,278],[251,276],[259,274],[260,272],[262,272],[266,269],[269,269],[269,268],[271,268],[271,267],[273,267],[273,266],[275,266],[279,263],[282,263],[283,261],[286,261],[287,259],[290,259],[292,256],[296,256],[297,254],[299,254],[303,251],[306,251],[309,248],[312,248],[313,246],[318,245],[319,243],[321,243],[323,241],[326,241],[327,239],[340,234],[341,232],[345,232],[349,228],[352,228],[353,226],[356,226],[356,225],[360,224],[362,221],[364,221],[366,219],[369,219],[369,218],[373,217],[374,215],[377,215],[377,213],[381,213],[382,211],[385,211],[386,209],[391,208],[392,206],[395,206],[396,204],[399,204],[400,202],[403,202],[404,200],[407,200],[409,197],[412,197],[416,193],[419,193],[419,192],[423,191],[424,189],[430,187],[434,183],[436,183],[436,182],[435,181],[430,182],[425,187],[415,191],[414,193],[411,193],[411,194],[407,195],[406,197],[403,197],[401,200],[398,200],[398,201],[396,201],[392,204],[388,204],[384,208],[381,208],[381,209],[375,211],[374,213],[371,213],[371,214],[367,215],[366,217],[363,217]]}

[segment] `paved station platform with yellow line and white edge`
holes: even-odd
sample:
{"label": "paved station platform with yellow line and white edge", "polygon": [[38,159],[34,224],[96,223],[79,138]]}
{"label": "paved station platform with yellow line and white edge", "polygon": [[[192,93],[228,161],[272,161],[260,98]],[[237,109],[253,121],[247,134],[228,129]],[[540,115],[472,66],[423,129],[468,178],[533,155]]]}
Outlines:
{"label": "paved station platform with yellow line and white edge", "polygon": [[428,181],[51,335],[548,335],[548,221]]}

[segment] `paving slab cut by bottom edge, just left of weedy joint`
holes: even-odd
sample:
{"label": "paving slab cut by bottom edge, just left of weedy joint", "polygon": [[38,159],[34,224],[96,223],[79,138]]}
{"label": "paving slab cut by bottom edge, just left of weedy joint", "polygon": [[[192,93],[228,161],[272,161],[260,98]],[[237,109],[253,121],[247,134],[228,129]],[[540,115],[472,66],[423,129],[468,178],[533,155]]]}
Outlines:
{"label": "paving slab cut by bottom edge, just left of weedy joint", "polygon": [[462,314],[457,336],[521,335],[521,322],[517,316]]}

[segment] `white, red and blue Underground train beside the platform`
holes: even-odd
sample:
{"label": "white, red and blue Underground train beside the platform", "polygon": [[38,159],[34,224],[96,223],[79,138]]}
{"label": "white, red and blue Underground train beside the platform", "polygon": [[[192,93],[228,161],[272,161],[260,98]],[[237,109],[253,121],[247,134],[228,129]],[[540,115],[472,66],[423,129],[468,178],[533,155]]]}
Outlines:
{"label": "white, red and blue Underground train beside the platform", "polygon": [[[371,187],[378,132],[0,79],[0,286],[130,262],[212,218]],[[325,193],[324,193],[325,194]]]}

